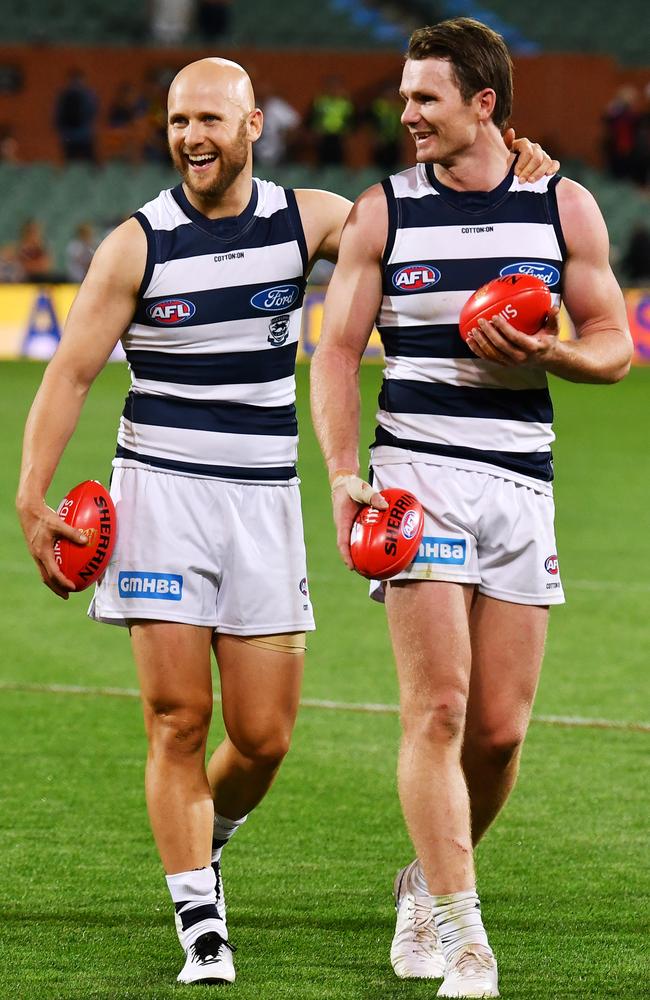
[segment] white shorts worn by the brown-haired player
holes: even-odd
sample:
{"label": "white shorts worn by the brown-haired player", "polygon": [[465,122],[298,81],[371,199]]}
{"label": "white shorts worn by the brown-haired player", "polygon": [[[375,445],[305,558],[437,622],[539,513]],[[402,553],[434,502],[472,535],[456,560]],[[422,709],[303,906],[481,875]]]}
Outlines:
{"label": "white shorts worn by the brown-haired player", "polygon": [[[424,535],[394,580],[474,583],[514,604],[563,604],[553,497],[484,472],[424,462],[378,465],[373,484],[411,490],[424,507]],[[373,581],[370,593],[383,600]]]}

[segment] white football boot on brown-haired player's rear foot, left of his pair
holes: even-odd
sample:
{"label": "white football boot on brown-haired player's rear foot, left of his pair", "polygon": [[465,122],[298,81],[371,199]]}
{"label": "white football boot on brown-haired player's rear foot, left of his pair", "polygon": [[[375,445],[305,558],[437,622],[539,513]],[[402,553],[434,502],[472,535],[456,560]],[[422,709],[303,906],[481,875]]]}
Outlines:
{"label": "white football boot on brown-haired player's rear foot, left of his pair", "polygon": [[395,878],[397,922],[390,948],[390,962],[400,979],[442,979],[445,957],[433,921],[431,896],[417,894],[412,876],[417,859]]}

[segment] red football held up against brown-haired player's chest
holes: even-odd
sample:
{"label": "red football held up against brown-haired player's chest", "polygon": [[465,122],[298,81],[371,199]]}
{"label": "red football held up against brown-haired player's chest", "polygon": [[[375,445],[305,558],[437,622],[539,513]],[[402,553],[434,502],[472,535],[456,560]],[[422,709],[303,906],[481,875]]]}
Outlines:
{"label": "red football held up against brown-haired player's chest", "polygon": [[503,316],[521,333],[537,333],[551,308],[551,293],[533,274],[504,274],[482,285],[461,309],[458,325],[463,340],[479,319]]}

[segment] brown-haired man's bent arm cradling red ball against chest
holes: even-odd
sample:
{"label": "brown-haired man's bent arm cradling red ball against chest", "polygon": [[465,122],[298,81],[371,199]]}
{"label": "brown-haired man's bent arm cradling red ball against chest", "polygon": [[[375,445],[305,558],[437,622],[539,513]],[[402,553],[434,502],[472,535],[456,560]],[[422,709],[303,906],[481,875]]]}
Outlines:
{"label": "brown-haired man's bent arm cradling red ball against chest", "polygon": [[480,320],[468,344],[488,361],[540,365],[570,382],[618,382],[629,371],[633,347],[623,293],[609,265],[607,229],[596,202],[579,184],[561,180],[557,198],[568,252],[562,295],[577,339],[559,340],[553,310],[533,336],[498,316],[490,323]]}

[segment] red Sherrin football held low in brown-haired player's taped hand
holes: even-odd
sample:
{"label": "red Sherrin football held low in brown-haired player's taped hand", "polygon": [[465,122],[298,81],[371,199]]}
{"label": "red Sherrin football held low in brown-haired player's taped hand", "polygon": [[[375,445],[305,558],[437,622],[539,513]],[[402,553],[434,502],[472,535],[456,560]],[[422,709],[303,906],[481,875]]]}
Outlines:
{"label": "red Sherrin football held low in brown-haired player's taped hand", "polygon": [[387,580],[413,562],[424,531],[422,504],[408,490],[381,490],[386,510],[362,507],[350,534],[357,573]]}

